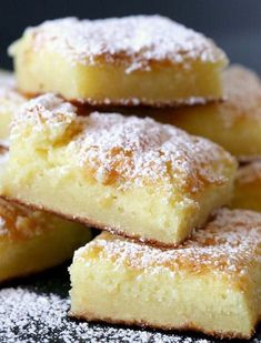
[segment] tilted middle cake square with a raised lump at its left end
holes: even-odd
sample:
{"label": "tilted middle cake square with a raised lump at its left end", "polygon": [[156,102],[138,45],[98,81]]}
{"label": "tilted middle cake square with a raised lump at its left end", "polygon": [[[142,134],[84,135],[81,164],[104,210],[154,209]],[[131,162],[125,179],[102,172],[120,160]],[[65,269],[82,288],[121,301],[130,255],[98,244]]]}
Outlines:
{"label": "tilted middle cake square with a raised lump at its left end", "polygon": [[174,245],[232,196],[228,152],[149,118],[80,117],[46,94],[11,127],[1,195],[98,229]]}

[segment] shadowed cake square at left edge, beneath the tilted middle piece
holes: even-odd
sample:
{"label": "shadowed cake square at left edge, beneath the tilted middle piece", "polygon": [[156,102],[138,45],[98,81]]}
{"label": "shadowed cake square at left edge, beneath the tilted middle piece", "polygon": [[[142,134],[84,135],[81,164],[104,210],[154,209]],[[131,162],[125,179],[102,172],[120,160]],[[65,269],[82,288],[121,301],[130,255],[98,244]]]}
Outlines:
{"label": "shadowed cake square at left edge, beneath the tilted middle piece", "polygon": [[[7,154],[0,145],[0,170]],[[58,265],[90,239],[81,224],[0,199],[0,283]]]}

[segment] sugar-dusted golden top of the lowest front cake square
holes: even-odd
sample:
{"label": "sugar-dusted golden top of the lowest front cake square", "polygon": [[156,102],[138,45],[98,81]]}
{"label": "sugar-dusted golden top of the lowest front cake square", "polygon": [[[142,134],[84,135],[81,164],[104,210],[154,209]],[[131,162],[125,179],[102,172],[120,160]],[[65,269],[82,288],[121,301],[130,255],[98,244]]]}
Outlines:
{"label": "sugar-dusted golden top of the lowest front cake square", "polygon": [[102,233],[81,248],[74,259],[90,263],[88,254],[113,260],[148,273],[168,269],[174,273],[204,273],[243,278],[254,262],[261,263],[261,214],[222,209],[192,238],[175,249],[160,249]]}

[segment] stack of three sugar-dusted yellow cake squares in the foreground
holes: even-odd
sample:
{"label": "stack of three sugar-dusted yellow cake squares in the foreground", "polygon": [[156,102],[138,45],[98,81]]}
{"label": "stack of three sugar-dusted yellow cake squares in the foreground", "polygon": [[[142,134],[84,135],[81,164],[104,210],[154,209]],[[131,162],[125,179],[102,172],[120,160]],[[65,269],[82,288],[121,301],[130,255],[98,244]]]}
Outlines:
{"label": "stack of three sugar-dusted yellow cake squares in the foreground", "polygon": [[220,210],[229,152],[153,119],[224,107],[225,54],[158,16],[48,21],[10,52],[19,91],[44,94],[13,114],[1,196],[107,231],[74,255],[71,315],[250,337],[261,214]]}

